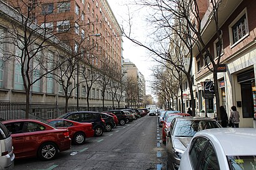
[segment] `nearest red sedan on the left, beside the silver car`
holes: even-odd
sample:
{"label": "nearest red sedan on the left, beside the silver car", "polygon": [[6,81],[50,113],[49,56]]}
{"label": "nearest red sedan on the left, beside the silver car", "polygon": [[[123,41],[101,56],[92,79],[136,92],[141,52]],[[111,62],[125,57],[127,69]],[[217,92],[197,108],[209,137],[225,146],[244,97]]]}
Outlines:
{"label": "nearest red sedan on the left, beside the silver car", "polygon": [[59,151],[71,148],[67,129],[57,130],[39,120],[7,120],[2,123],[11,132],[16,159],[38,156],[42,160],[51,160]]}

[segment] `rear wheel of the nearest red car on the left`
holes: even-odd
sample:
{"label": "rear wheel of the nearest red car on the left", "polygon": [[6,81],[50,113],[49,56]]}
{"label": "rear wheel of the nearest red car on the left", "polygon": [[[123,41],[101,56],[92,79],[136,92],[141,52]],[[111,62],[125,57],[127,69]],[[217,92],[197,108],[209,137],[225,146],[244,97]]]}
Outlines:
{"label": "rear wheel of the nearest red car on the left", "polygon": [[51,142],[43,143],[37,151],[38,157],[44,161],[54,159],[57,153],[58,148],[56,144]]}

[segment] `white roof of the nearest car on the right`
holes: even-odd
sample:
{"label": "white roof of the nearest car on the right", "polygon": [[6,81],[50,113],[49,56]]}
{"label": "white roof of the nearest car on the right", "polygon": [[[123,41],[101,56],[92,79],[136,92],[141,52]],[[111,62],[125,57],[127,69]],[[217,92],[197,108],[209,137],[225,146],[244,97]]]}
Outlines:
{"label": "white roof of the nearest car on the right", "polygon": [[212,143],[221,146],[227,156],[255,155],[255,128],[217,128],[199,131],[196,136],[206,136]]}

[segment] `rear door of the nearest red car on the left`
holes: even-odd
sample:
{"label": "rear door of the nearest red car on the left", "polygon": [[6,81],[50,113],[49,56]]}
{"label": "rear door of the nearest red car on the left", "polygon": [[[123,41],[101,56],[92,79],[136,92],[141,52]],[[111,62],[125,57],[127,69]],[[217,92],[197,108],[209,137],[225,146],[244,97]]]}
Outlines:
{"label": "rear door of the nearest red car on the left", "polygon": [[47,136],[45,129],[46,127],[39,123],[32,121],[24,122],[23,134],[25,142],[23,153],[27,157],[36,156],[39,144],[44,140],[49,140],[49,136]]}

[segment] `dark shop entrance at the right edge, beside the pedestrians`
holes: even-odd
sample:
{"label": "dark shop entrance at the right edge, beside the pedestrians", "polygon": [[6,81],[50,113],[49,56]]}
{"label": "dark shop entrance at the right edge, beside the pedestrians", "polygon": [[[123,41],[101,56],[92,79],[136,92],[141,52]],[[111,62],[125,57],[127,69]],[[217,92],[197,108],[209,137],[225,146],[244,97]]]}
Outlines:
{"label": "dark shop entrance at the right edge, beside the pedestrians", "polygon": [[237,101],[237,107],[242,107],[243,118],[253,118],[256,113],[256,88],[254,70],[237,75],[240,83],[242,102]]}

